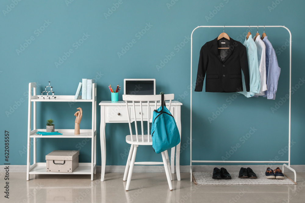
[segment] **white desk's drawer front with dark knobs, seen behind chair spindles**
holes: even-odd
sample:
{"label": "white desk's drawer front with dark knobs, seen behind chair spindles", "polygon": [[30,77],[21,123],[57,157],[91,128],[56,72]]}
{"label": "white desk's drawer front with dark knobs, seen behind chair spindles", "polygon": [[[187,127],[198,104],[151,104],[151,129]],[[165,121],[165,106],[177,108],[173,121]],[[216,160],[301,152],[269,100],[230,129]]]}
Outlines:
{"label": "white desk's drawer front with dark knobs, seen behind chair spindles", "polygon": [[[131,114],[130,118],[133,120],[135,118],[134,112],[133,112],[133,107],[128,105],[128,110],[129,113]],[[143,105],[143,120],[147,121],[147,106]],[[152,113],[153,110],[155,109],[155,106],[149,106],[149,120],[151,122],[152,120]],[[175,117],[176,119],[176,114],[175,114],[176,107],[171,107],[170,113]],[[141,120],[141,114],[140,114],[140,106],[135,106],[135,111],[136,111],[136,117],[137,119]],[[127,115],[127,110],[126,106],[106,106],[105,107],[105,114],[106,114],[106,122],[107,121],[126,121],[128,122],[128,115]],[[131,121],[132,122],[132,121]]]}

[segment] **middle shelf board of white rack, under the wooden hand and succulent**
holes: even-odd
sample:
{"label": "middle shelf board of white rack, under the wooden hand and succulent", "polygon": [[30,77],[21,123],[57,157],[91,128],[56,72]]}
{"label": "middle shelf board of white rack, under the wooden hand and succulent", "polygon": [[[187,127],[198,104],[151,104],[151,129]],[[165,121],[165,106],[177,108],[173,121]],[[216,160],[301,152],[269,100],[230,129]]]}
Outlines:
{"label": "middle shelf board of white rack, under the wooden hand and succulent", "polygon": [[38,131],[46,131],[46,129],[36,129],[30,132],[30,138],[92,138],[96,135],[96,130],[92,135],[91,129],[81,129],[81,134],[74,135],[74,129],[55,129],[59,133],[63,135],[38,135],[36,132]]}

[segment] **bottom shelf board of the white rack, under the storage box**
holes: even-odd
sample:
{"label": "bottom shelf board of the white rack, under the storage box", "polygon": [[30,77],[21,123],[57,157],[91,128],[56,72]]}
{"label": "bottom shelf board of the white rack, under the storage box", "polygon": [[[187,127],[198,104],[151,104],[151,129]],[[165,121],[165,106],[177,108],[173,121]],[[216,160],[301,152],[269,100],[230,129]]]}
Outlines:
{"label": "bottom shelf board of the white rack, under the storage box", "polygon": [[[96,164],[93,165],[93,171],[96,168]],[[46,163],[36,163],[33,169],[30,170],[29,174],[91,174],[91,163],[79,163],[78,167],[72,173],[54,173],[47,172]]]}

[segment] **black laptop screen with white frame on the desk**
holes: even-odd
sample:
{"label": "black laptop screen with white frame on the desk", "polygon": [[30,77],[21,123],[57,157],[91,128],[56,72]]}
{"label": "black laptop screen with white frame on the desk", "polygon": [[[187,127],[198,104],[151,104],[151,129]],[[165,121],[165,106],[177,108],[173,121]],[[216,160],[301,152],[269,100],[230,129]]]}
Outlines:
{"label": "black laptop screen with white frame on the desk", "polygon": [[155,79],[124,79],[124,94],[155,95]]}

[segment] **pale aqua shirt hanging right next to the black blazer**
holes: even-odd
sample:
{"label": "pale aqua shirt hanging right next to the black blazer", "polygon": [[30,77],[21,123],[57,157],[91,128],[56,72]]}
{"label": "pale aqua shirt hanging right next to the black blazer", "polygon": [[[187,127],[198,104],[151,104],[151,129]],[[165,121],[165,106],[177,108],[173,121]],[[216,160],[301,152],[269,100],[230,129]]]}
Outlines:
{"label": "pale aqua shirt hanging right next to the black blazer", "polygon": [[252,38],[252,35],[250,35],[249,38],[245,40],[243,45],[245,45],[247,48],[250,92],[246,91],[245,80],[244,77],[242,77],[242,86],[244,91],[239,93],[245,95],[246,97],[251,97],[254,96],[255,93],[260,93],[260,70],[257,58],[257,46]]}

